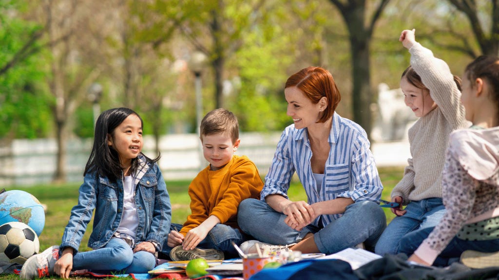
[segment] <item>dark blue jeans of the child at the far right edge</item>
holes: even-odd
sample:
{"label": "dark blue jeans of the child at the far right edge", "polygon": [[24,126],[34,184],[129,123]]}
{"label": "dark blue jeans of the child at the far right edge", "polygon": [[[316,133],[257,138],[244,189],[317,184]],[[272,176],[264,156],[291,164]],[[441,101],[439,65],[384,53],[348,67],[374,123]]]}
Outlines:
{"label": "dark blue jeans of the child at the far right edge", "polygon": [[[399,252],[404,253],[407,256],[411,256],[416,249],[418,249],[419,244],[430,235],[435,227],[425,228],[415,232],[411,232],[406,235],[400,241]],[[433,263],[436,267],[446,267],[453,262],[456,262],[461,257],[461,254],[466,250],[475,250],[479,252],[498,252],[499,251],[499,239],[494,240],[483,240],[483,241],[466,241],[457,237],[454,237],[449,245],[440,253],[435,262]]]}

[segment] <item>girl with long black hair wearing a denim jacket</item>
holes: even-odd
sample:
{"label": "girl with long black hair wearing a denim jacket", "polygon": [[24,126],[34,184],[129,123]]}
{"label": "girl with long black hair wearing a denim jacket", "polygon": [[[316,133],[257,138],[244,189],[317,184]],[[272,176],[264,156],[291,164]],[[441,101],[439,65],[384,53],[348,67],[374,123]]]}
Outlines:
{"label": "girl with long black hair wearing a denim jacket", "polygon": [[[29,258],[21,279],[71,270],[147,273],[156,265],[171,222],[165,180],[155,159],[142,153],[140,116],[127,108],[104,111],[95,125],[78,204],[71,210],[60,246]],[[89,252],[78,252],[95,209]]]}

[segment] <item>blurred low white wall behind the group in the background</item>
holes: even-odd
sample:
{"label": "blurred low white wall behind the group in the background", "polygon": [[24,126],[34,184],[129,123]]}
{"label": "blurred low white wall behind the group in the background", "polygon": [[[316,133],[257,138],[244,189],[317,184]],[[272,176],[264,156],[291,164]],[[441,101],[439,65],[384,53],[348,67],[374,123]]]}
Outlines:
{"label": "blurred low white wall behind the group in the background", "polygon": [[[260,175],[266,174],[275,146],[280,137],[276,133],[242,133],[236,152],[247,155],[257,166]],[[81,182],[83,169],[90,153],[91,139],[70,139],[67,147],[67,180]],[[144,137],[144,153],[155,157],[154,140]],[[378,166],[399,166],[407,163],[409,145],[406,141],[383,142],[371,145]],[[0,147],[0,186],[48,183],[53,179],[57,145],[54,139],[14,140]],[[199,137],[195,134],[164,136],[160,140],[159,161],[166,180],[192,179],[207,162],[202,157]]]}

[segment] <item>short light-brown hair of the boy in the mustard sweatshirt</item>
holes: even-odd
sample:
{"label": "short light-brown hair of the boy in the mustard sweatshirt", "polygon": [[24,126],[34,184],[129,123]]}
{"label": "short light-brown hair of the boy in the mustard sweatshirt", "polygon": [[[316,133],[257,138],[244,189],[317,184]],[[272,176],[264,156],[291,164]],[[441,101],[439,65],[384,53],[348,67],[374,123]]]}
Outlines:
{"label": "short light-brown hair of the boy in the mustard sweatshirt", "polygon": [[239,139],[238,118],[231,111],[222,108],[206,114],[201,121],[201,136],[225,133],[230,135],[233,143]]}

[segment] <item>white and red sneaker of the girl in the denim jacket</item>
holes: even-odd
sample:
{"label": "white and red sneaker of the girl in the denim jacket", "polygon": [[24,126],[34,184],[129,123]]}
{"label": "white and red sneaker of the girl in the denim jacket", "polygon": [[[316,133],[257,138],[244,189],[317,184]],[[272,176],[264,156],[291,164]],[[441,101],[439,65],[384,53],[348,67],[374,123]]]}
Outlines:
{"label": "white and red sneaker of the girl in the denim jacket", "polygon": [[59,246],[54,245],[40,254],[29,257],[22,265],[19,277],[29,280],[50,276],[54,273],[54,265],[58,259]]}

